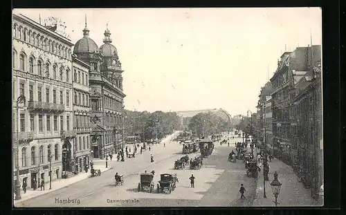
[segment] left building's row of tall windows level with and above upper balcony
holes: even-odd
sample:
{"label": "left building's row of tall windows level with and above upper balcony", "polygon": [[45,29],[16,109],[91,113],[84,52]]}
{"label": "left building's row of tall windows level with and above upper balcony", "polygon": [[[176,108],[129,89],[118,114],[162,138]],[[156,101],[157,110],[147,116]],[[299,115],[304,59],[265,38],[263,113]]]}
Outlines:
{"label": "left building's row of tall windows level with and above upper balcony", "polygon": [[[15,90],[15,81],[13,83],[13,99],[16,97]],[[36,93],[35,93],[36,91]],[[60,90],[58,92],[57,88],[51,88],[50,86],[34,86],[34,84],[29,84],[29,92],[26,95],[26,83],[19,82],[19,95],[24,95],[28,98],[28,101],[38,101],[38,102],[47,102],[53,104],[64,104],[66,102],[66,106],[70,106],[70,91],[66,89],[66,93],[64,95],[64,91]],[[64,100],[64,97],[66,100]],[[57,100],[59,99],[59,101]],[[58,103],[59,102],[59,103]]]}

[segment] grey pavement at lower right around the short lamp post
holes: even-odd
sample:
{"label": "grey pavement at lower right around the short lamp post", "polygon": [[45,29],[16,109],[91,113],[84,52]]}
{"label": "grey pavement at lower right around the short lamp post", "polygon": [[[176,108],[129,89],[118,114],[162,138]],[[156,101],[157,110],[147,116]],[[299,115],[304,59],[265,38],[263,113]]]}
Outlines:
{"label": "grey pavement at lower right around the short lamp post", "polygon": [[[297,176],[294,174],[293,169],[286,165],[281,160],[274,158],[269,165],[269,180],[265,182],[266,197],[263,198],[264,185],[263,185],[263,169],[258,172],[256,198],[253,206],[257,207],[275,207],[275,197],[271,190],[271,182],[274,179],[274,173],[277,172],[277,179],[282,183],[280,194],[277,197],[277,202],[280,203],[278,207],[297,207],[297,206],[311,206],[313,204],[310,196],[309,189],[305,189],[302,183],[298,182]],[[263,166],[263,165],[262,165]]]}

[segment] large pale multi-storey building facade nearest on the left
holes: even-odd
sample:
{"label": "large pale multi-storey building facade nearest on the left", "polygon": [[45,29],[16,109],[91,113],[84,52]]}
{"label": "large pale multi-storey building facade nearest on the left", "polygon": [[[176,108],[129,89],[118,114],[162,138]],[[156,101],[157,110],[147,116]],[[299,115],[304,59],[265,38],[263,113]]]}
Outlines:
{"label": "large pale multi-storey building facade nearest on the left", "polygon": [[[20,181],[30,188],[33,178],[48,183],[49,174],[73,171],[73,44],[23,15],[13,15],[12,30],[13,144]],[[20,95],[25,108],[17,107]]]}

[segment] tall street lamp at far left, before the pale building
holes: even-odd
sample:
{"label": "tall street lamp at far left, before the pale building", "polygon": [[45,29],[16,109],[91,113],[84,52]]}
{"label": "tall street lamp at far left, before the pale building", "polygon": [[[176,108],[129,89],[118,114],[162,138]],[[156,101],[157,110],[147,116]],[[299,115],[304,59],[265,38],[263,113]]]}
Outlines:
{"label": "tall street lamp at far left, before the pale building", "polygon": [[24,95],[19,95],[19,97],[17,98],[17,138],[16,138],[16,154],[17,154],[17,158],[16,158],[16,176],[17,176],[17,179],[16,179],[16,183],[15,183],[15,194],[16,194],[16,197],[15,199],[16,200],[19,200],[21,199],[21,185],[20,185],[20,182],[19,182],[19,140],[18,140],[18,133],[19,133],[19,121],[18,121],[18,115],[19,115],[19,104],[23,104],[23,107],[25,106],[25,103],[26,103],[26,97]]}

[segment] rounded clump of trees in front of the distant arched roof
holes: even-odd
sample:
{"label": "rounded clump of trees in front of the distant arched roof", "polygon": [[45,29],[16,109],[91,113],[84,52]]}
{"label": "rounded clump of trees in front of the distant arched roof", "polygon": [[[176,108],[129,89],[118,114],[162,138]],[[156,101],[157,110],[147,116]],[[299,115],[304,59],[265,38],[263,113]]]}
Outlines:
{"label": "rounded clump of trees in front of the distant arched roof", "polygon": [[199,137],[212,135],[223,131],[230,131],[231,122],[214,113],[198,113],[190,119],[189,129]]}

